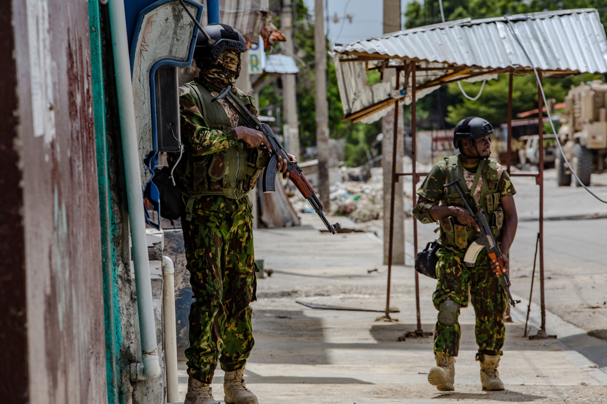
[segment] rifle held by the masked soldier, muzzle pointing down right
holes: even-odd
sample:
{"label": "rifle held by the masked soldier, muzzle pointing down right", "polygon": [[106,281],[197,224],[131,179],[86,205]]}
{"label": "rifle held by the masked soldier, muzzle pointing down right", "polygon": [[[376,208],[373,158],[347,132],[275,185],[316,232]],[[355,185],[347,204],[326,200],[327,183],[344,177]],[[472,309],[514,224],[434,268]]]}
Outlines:
{"label": "rifle held by the masked soldier, muzzle pointing down right", "polygon": [[[305,197],[305,199],[310,202],[314,208],[314,211],[316,211],[318,216],[320,216],[320,220],[322,220],[325,226],[327,226],[327,229],[331,233],[335,234],[335,230],[339,227],[339,223],[332,225],[328,222],[327,217],[325,217],[325,214],[322,213],[322,204],[320,204],[320,200],[316,196],[316,193],[314,193],[314,188],[311,187],[310,183],[302,173],[302,169],[299,167],[299,165],[297,165],[296,162],[291,161],[291,157],[289,157],[287,151],[285,151],[285,148],[282,147],[282,144],[280,144],[278,137],[276,137],[276,134],[274,134],[270,126],[268,126],[268,124],[262,124],[262,122],[260,122],[259,119],[257,119],[257,117],[254,116],[245,107],[245,105],[242,104],[242,102],[240,102],[237,96],[232,93],[231,89],[232,86],[228,85],[228,87],[224,88],[217,97],[212,99],[212,102],[223,99],[228,106],[238,114],[240,119],[245,122],[247,127],[254,130],[259,130],[263,133],[266,139],[268,139],[268,143],[270,144],[272,151],[270,153],[270,162],[268,162],[265,170],[263,170],[263,192],[276,191],[275,182],[276,173],[278,172],[278,159],[280,159],[280,161],[287,160],[289,179],[291,182],[293,182],[293,184],[295,184],[295,187]],[[236,105],[234,104],[238,105],[239,108],[236,108]]]}

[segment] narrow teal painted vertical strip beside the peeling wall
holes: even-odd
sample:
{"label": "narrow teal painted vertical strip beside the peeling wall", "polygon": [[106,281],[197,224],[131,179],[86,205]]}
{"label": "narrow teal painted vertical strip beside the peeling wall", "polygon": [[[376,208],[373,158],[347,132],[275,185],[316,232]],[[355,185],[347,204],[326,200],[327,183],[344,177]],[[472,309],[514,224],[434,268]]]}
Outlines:
{"label": "narrow teal painted vertical strip beside the peeling wall", "polygon": [[112,215],[109,191],[109,165],[107,153],[106,105],[101,55],[101,26],[98,0],[89,0],[90,59],[95,108],[95,139],[97,148],[97,176],[99,184],[99,210],[101,218],[101,254],[103,259],[103,305],[106,328],[107,399],[118,402],[121,346],[120,307],[118,298],[117,251],[112,243],[119,236]]}

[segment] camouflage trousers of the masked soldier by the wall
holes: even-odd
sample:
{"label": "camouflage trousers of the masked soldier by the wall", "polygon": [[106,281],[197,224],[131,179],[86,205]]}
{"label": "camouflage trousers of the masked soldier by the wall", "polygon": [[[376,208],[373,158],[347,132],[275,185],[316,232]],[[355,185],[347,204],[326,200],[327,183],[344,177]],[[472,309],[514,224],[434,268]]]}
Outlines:
{"label": "camouflage trousers of the masked soldier by the wall", "polygon": [[251,313],[256,292],[250,210],[194,210],[182,219],[195,302],[189,314],[188,374],[211,383],[224,371],[245,367],[253,349]]}

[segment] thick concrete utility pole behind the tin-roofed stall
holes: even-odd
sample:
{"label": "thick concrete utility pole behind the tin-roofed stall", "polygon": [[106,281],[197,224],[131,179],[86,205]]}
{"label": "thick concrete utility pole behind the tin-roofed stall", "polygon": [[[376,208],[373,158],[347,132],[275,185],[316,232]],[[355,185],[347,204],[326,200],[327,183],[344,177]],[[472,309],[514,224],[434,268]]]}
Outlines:
{"label": "thick concrete utility pole behind the tin-roofed stall", "polygon": [[[384,34],[401,30],[400,0],[384,0]],[[383,73],[383,81],[390,82],[396,75],[395,69],[387,68]],[[402,81],[401,81],[402,83]],[[405,83],[401,84],[406,87]],[[392,187],[392,144],[394,136],[395,114],[389,112],[382,119],[382,168],[384,172],[384,265],[388,263],[388,237],[390,228],[390,188]],[[398,111],[398,131],[396,139],[396,172],[402,173],[402,158],[404,157],[404,139],[402,107]],[[405,263],[405,214],[402,185],[404,177],[396,182],[394,199],[394,241],[392,247],[392,263]]]}

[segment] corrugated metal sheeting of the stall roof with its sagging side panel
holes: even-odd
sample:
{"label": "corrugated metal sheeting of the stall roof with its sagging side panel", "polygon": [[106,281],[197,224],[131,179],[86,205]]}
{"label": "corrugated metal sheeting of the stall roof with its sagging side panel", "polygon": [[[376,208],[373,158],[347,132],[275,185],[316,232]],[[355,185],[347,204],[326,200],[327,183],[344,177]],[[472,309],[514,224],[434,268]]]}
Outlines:
{"label": "corrugated metal sheeting of the stall roof with its sagging side panel", "polygon": [[[607,39],[599,13],[594,8],[515,15],[508,19],[512,24],[508,23],[506,17],[480,20],[467,18],[334,47],[337,83],[344,114],[348,116],[386,99],[402,96],[396,93],[398,89],[395,88],[395,80],[392,83],[369,86],[366,62],[343,62],[344,59],[354,57],[350,55],[415,59],[422,61],[423,68],[444,67],[444,70],[418,71],[418,88],[445,75],[447,65],[474,67],[475,71],[484,68],[536,67],[541,70],[607,72]],[[523,43],[529,58],[512,29]],[[466,81],[495,78],[497,75],[484,75]],[[411,87],[409,79],[404,86],[408,94],[402,100],[405,105],[411,102]],[[418,99],[436,88],[438,86],[418,91]],[[390,105],[379,110],[362,122],[374,122],[392,108],[393,105]]]}

